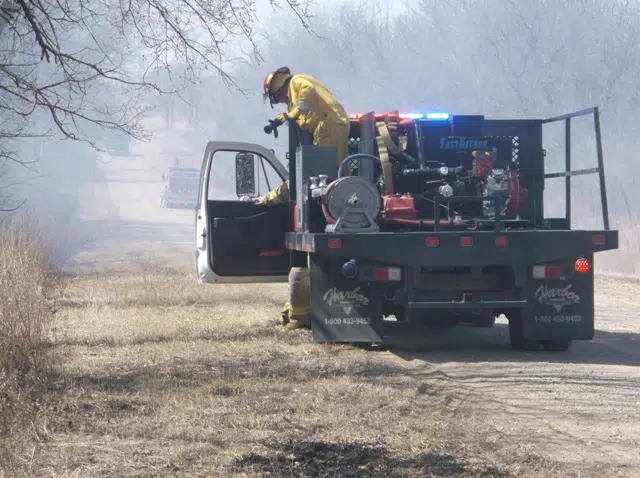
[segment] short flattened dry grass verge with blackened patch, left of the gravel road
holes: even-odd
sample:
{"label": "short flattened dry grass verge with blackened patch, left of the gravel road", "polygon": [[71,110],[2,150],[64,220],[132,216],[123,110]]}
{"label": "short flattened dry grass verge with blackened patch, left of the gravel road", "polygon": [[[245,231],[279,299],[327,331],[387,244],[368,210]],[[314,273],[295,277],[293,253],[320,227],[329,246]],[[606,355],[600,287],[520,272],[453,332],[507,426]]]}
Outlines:
{"label": "short flattened dry grass verge with blackened patch, left of the gravel road", "polygon": [[437,377],[265,327],[285,292],[167,271],[71,280],[31,476],[561,476]]}

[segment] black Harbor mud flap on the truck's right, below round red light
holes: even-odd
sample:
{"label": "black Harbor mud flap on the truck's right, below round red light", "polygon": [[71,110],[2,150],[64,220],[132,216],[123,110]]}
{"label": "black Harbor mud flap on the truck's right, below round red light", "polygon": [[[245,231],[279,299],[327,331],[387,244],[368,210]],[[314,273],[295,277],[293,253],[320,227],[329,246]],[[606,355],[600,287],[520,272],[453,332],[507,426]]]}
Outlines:
{"label": "black Harbor mud flap on the truck's right, below round red light", "polygon": [[[593,256],[589,257],[590,262],[592,259]],[[553,278],[547,275],[535,279],[533,271],[529,271],[530,305],[522,311],[522,335],[530,340],[591,340],[593,272],[577,274],[574,261],[546,266],[554,271]]]}

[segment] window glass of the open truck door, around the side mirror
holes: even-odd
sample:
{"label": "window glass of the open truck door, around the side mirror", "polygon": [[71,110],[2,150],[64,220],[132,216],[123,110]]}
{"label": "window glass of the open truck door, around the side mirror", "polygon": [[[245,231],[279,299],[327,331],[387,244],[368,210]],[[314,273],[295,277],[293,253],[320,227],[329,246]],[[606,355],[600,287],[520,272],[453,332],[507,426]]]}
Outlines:
{"label": "window glass of the open truck door, around the side mirror", "polygon": [[[209,201],[239,201],[236,194],[236,156],[241,151],[216,151],[209,174]],[[282,184],[283,179],[273,166],[257,153],[254,157],[255,196],[263,196]]]}

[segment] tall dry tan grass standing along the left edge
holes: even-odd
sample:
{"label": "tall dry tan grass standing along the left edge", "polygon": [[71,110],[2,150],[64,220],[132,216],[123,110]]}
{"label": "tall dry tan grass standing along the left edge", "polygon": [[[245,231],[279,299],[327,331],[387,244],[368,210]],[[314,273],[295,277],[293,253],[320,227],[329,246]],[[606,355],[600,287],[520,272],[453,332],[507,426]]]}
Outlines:
{"label": "tall dry tan grass standing along the left edge", "polygon": [[37,436],[54,357],[47,240],[29,215],[0,233],[0,476],[16,476]]}

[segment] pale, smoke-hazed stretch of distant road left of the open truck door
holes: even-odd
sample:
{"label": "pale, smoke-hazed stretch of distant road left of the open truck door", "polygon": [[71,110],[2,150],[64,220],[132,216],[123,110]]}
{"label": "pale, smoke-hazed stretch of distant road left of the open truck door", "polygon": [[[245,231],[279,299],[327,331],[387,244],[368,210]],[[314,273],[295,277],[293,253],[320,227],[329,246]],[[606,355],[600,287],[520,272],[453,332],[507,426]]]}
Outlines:
{"label": "pale, smoke-hazed stretch of distant road left of the open truck door", "polygon": [[87,273],[144,264],[191,265],[194,213],[159,207],[161,175],[171,161],[154,159],[135,152],[100,156],[93,181],[80,191],[80,244],[67,269]]}

